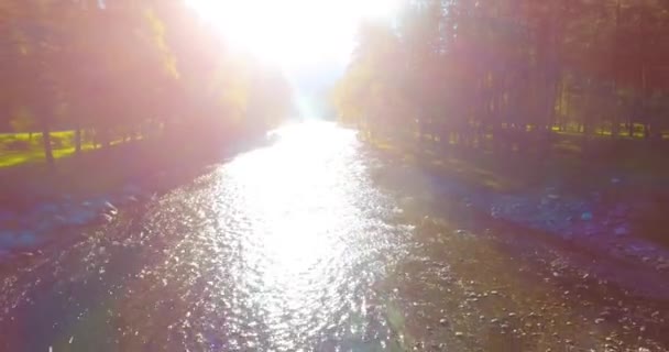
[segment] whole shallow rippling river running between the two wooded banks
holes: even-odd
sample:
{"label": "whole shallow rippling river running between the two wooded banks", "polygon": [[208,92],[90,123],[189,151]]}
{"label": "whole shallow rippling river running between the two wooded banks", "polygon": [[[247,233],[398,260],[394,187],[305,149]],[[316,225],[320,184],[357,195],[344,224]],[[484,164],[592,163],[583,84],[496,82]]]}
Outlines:
{"label": "whole shallow rippling river running between the two wooded banks", "polygon": [[6,270],[1,351],[665,351],[668,300],[475,224],[328,123]]}

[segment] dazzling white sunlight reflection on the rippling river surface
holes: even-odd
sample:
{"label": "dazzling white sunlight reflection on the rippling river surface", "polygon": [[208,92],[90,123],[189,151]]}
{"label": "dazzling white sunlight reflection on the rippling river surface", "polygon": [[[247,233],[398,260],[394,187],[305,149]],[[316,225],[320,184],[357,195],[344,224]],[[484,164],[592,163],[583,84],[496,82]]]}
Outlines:
{"label": "dazzling white sunlight reflection on the rippling river surface", "polygon": [[390,333],[381,310],[368,307],[376,301],[372,287],[394,263],[392,253],[401,253],[395,234],[407,230],[384,220],[394,207],[372,186],[353,131],[312,122],[275,133],[275,144],[164,200],[174,211],[163,209],[155,221],[163,228],[182,226],[191,213],[185,209],[201,213],[183,250],[198,263],[191,275],[209,275],[208,299],[221,308],[189,318],[189,326],[221,321],[226,350],[379,344],[384,339],[365,342],[365,334]]}

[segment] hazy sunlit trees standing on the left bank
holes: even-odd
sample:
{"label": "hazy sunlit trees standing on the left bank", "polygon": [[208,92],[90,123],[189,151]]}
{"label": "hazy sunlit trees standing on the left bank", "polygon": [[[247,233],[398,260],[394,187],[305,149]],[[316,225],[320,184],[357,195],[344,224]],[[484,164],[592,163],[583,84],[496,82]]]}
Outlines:
{"label": "hazy sunlit trees standing on the left bank", "polygon": [[262,131],[292,111],[285,77],[232,54],[183,0],[0,1],[0,128],[102,145]]}

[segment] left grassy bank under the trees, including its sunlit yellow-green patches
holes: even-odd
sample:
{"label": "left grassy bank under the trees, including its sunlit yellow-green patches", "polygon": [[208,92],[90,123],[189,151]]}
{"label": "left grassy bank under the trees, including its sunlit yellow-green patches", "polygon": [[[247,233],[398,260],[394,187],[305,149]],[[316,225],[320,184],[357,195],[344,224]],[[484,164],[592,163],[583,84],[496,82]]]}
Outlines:
{"label": "left grassy bank under the trees, including its sunlit yellow-green patches", "polygon": [[152,175],[172,170],[171,177],[178,178],[197,173],[208,162],[208,152],[218,157],[218,152],[200,146],[197,141],[184,143],[180,135],[172,139],[154,133],[127,142],[117,140],[98,148],[88,143],[85,152],[76,156],[74,147],[64,144],[54,151],[57,157],[54,168],[44,163],[41,150],[11,157],[3,153],[0,160],[12,166],[0,167],[0,204],[22,209],[66,195],[86,199],[108,195],[128,183],[153,189],[173,180],[156,180]]}

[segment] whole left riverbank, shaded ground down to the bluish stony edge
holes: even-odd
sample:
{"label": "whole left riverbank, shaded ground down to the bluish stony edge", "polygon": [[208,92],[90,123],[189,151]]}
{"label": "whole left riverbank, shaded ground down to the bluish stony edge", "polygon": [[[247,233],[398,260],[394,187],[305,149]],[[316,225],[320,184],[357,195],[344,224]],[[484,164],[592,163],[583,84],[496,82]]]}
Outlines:
{"label": "whole left riverbank, shaded ground down to the bluish stony edge", "polygon": [[75,228],[113,221],[124,208],[201,175],[208,165],[257,145],[171,143],[149,139],[58,160],[0,169],[0,262],[33,255]]}

